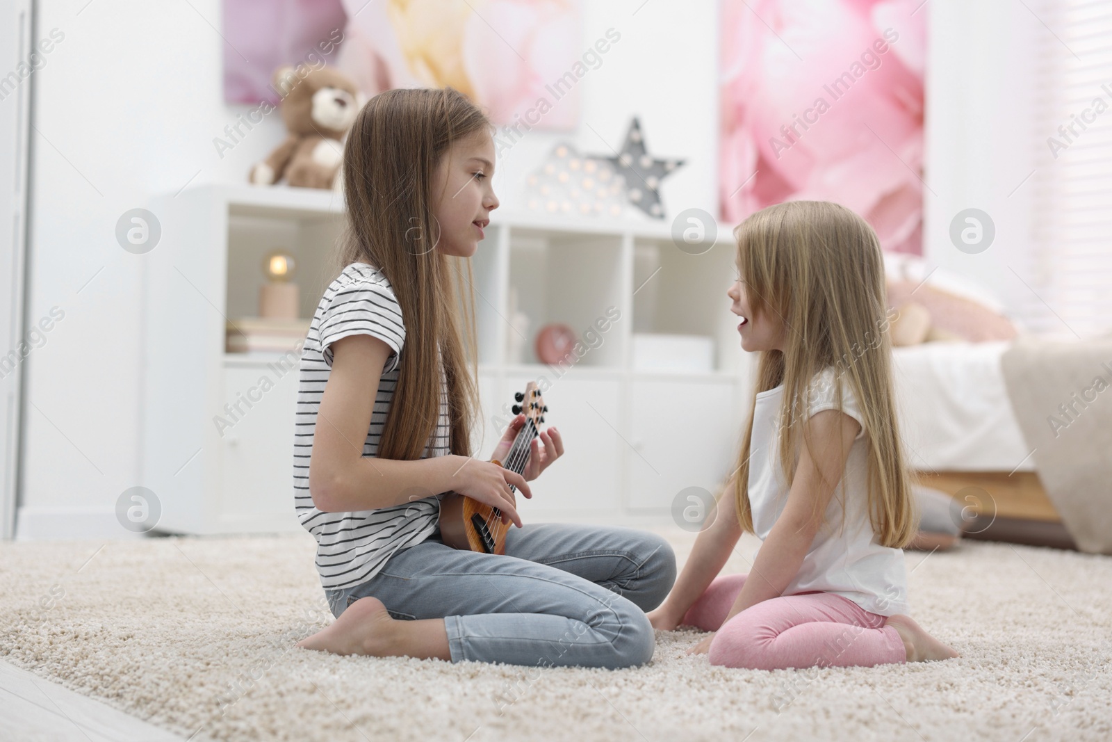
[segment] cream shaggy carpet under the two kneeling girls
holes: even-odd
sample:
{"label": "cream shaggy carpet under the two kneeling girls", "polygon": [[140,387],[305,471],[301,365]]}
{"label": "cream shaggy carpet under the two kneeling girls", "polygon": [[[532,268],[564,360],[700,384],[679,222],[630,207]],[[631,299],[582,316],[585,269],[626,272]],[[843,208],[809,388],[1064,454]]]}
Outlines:
{"label": "cream shaggy carpet under the two kneeling girls", "polygon": [[[693,536],[664,533],[682,562]],[[724,670],[682,631],[609,672],[295,649],[330,620],[312,552],[308,535],[3,544],[0,656],[195,740],[1112,739],[1112,557],[909,553],[914,615],[957,660]]]}

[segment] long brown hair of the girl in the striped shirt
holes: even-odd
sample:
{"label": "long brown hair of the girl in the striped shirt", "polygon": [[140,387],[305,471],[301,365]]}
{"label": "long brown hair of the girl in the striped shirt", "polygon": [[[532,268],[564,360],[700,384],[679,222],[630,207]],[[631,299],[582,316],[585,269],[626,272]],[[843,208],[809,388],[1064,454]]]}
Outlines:
{"label": "long brown hair of the girl in the striped shirt", "polygon": [[440,195],[431,191],[434,171],[448,148],[492,130],[486,116],[451,88],[396,89],[367,101],[348,135],[347,221],[335,267],[367,263],[378,268],[390,281],[406,328],[398,383],[378,445],[381,458],[420,457],[439,417],[441,363],[451,417],[449,447],[454,454],[471,453],[478,409],[471,265],[435,248],[439,227],[433,204]]}

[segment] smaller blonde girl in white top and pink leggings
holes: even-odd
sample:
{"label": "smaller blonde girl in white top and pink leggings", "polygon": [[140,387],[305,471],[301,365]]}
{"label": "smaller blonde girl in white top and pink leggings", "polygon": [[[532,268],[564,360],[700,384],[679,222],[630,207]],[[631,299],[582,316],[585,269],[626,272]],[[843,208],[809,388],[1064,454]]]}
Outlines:
{"label": "smaller blonde girl in white top and pink leggings", "polygon": [[[714,523],[649,620],[715,632],[689,651],[729,667],[957,656],[906,615],[916,518],[876,235],[836,204],[790,201],[735,236],[728,296],[761,354],[756,394]],[[716,577],[743,530],[764,542],[752,570]]]}

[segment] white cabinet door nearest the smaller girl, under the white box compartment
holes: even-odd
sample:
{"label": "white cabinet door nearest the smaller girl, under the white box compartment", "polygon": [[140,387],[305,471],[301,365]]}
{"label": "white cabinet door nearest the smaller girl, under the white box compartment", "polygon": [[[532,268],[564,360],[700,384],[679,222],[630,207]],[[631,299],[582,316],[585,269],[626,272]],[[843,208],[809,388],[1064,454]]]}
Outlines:
{"label": "white cabinet door nearest the smaller girl, under the white box compartment", "polygon": [[734,469],[743,413],[729,380],[635,378],[631,390],[631,508],[666,511],[686,487]]}

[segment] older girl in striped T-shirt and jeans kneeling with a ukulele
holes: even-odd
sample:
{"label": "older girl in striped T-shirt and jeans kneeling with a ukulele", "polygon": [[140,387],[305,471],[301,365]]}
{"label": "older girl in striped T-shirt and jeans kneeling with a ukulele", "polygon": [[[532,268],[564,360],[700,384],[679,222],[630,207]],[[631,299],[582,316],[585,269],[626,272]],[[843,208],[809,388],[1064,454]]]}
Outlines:
{"label": "older girl in striped T-shirt and jeans kneeling with a ukulele", "polygon": [[[455,90],[389,90],[356,117],[344,151],[348,234],[301,354],[295,506],[317,540],[336,621],[299,646],[524,665],[623,667],[653,656],[644,611],[675,580],[655,535],[522,526],[510,485],[564,453],[533,442],[524,476],[471,457],[477,410],[470,264],[498,199],[493,128]],[[466,313],[460,309],[467,309]],[[470,363],[466,363],[469,360]],[[494,452],[504,459],[518,415]],[[455,491],[516,524],[506,554],[439,537]]]}

